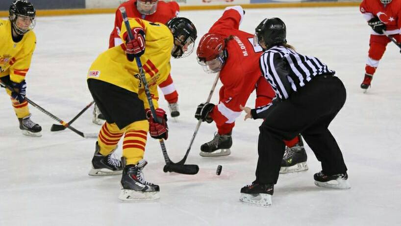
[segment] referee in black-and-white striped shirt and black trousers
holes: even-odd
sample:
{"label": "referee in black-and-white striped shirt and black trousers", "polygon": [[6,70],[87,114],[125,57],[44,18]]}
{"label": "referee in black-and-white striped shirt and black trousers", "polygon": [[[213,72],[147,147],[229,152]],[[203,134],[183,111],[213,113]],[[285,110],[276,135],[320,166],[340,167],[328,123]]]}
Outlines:
{"label": "referee in black-and-white striped shirt and black trousers", "polygon": [[263,20],[255,31],[255,45],[265,50],[260,70],[276,98],[256,109],[241,106],[247,113],[245,119],[266,119],[259,127],[256,180],[241,189],[241,201],[255,202],[247,195],[270,195],[271,199],[284,155],[283,140],[298,134],[322,164],[322,171],[314,175],[315,184],[350,188],[343,155],[328,130],[346,100],[343,83],[318,58],[301,55],[287,44],[286,26],[279,18]]}

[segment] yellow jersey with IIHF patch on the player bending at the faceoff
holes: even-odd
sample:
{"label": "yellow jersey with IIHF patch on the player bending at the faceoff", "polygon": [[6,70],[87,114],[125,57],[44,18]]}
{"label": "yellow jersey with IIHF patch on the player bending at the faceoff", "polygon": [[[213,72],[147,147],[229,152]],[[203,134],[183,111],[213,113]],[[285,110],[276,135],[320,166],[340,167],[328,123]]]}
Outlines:
{"label": "yellow jersey with IIHF patch on the player bending at the faceoff", "polygon": [[[157,86],[165,81],[170,74],[171,50],[173,35],[170,29],[160,23],[151,23],[138,18],[129,19],[131,28],[142,27],[145,31],[145,53],[140,57],[148,81],[153,103],[157,107]],[[121,38],[126,32],[122,25]],[[87,78],[99,79],[131,92],[137,93],[149,107],[144,87],[139,77],[136,61],[126,59],[124,44],[113,47],[101,53],[89,69]]]}

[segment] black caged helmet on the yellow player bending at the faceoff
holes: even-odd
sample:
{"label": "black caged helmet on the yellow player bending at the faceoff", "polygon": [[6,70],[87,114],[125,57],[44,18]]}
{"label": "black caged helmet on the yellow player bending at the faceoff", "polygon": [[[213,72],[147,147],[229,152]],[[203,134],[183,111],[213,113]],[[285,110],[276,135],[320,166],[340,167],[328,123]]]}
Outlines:
{"label": "black caged helmet on the yellow player bending at the faceoff", "polygon": [[184,17],[175,17],[166,24],[173,34],[174,47],[171,55],[174,58],[186,57],[192,53],[197,38],[197,30],[192,22]]}

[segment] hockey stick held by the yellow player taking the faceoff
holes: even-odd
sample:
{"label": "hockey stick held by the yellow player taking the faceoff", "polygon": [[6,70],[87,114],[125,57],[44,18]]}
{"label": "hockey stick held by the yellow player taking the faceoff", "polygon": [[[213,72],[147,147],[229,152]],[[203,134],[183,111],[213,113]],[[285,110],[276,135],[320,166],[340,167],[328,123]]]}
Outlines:
{"label": "hockey stick held by the yellow player taking the faceoff", "polygon": [[[125,28],[127,30],[128,39],[132,40],[134,37],[132,35],[131,27],[129,25],[128,18],[127,18],[126,13],[125,13],[125,7],[120,7],[119,9],[120,9],[121,15],[122,15],[123,20],[124,20]],[[135,57],[135,60],[136,60],[136,64],[137,64],[138,69],[139,69],[139,74],[140,74],[140,77],[141,77],[141,81],[142,81],[142,83],[144,85],[146,97],[147,97],[148,102],[149,102],[150,112],[151,112],[151,114],[153,116],[153,119],[156,121],[156,123],[160,123],[159,119],[156,117],[156,111],[154,110],[153,101],[152,101],[152,98],[150,96],[150,90],[149,90],[149,86],[148,86],[148,81],[146,80],[146,77],[145,77],[145,73],[144,73],[144,70],[143,70],[143,67],[142,67],[141,59],[139,57]],[[198,173],[198,171],[199,171],[199,166],[198,165],[183,165],[183,164],[176,164],[176,163],[172,162],[170,160],[169,155],[167,154],[166,146],[164,144],[163,139],[160,139],[159,142],[160,142],[161,150],[163,152],[164,161],[166,162],[166,166],[164,166],[164,168],[163,168],[163,171],[165,173],[167,171],[175,172],[175,173],[178,173],[178,174],[189,174],[189,175],[194,175],[194,174]]]}

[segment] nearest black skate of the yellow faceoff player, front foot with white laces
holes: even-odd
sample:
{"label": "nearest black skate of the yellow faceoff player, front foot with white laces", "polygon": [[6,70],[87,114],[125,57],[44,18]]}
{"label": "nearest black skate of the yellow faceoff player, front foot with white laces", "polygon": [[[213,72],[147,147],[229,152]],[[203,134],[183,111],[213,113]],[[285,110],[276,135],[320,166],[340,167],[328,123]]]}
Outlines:
{"label": "nearest black skate of the yellow faceoff player, front foot with white laces", "polygon": [[121,193],[118,197],[122,201],[152,201],[159,199],[159,186],[145,181],[142,170],[148,164],[144,159],[136,165],[124,167],[121,177]]}

